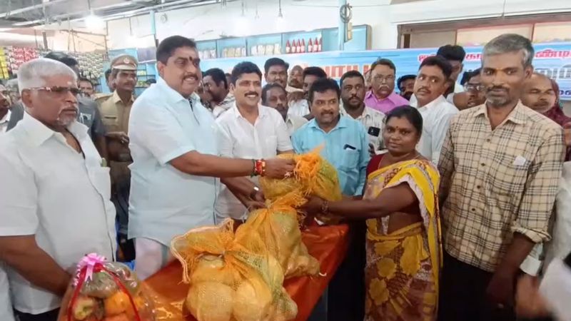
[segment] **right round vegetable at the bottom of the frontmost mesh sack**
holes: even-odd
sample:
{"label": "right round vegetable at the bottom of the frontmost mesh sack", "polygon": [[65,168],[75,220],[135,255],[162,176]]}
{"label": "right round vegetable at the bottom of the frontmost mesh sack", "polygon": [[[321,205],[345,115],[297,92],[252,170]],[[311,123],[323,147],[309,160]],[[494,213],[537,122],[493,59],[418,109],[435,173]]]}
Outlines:
{"label": "right round vegetable at the bottom of the frontmost mesh sack", "polygon": [[272,292],[259,277],[244,280],[234,294],[233,315],[237,321],[268,320]]}

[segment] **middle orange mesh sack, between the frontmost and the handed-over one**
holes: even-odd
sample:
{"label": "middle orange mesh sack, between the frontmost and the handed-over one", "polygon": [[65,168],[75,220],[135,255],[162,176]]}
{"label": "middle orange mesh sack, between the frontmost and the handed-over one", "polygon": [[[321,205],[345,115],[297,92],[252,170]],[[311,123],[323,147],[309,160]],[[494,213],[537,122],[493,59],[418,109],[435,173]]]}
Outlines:
{"label": "middle orange mesh sack, between the frontmost and the handed-over one", "polygon": [[294,207],[305,203],[299,192],[283,195],[268,208],[254,210],[241,230],[246,238],[261,238],[269,253],[276,257],[285,272],[285,278],[317,275],[319,262],[308,253],[301,241],[297,211]]}

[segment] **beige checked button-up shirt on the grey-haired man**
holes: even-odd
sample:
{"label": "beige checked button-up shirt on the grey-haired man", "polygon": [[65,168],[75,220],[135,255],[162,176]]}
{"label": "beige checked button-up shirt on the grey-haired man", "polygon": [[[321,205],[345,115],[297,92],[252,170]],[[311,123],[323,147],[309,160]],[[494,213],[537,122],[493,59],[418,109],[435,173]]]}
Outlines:
{"label": "beige checked button-up shirt on the grey-haired man", "polygon": [[521,102],[494,130],[485,105],[461,111],[438,165],[445,250],[493,272],[513,233],[549,240],[564,153],[562,128]]}

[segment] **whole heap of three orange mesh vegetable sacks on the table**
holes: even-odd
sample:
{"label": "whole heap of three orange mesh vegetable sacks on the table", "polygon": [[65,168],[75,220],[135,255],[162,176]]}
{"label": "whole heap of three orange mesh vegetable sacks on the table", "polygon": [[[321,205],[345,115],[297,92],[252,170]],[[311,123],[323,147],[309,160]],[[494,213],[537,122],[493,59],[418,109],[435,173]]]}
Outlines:
{"label": "whole heap of three orange mesh vegetable sacks on the table", "polygon": [[[301,241],[296,208],[315,194],[340,200],[337,172],[318,151],[293,158],[293,177],[261,178],[267,207],[254,210],[236,230],[232,220],[198,228],[171,243],[191,285],[186,307],[198,321],[287,321],[298,308],[283,288],[290,277],[318,275],[319,263]],[[335,220],[320,218],[326,223]]]}

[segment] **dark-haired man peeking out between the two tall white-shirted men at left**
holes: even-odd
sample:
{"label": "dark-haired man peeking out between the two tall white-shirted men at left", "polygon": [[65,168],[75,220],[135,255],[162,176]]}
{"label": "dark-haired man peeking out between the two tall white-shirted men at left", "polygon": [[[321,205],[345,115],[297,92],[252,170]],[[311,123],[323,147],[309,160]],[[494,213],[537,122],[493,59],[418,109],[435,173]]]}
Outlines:
{"label": "dark-haired man peeking out between the two tall white-shirted men at left", "polygon": [[230,93],[224,71],[219,68],[208,69],[202,77],[203,90],[212,97],[211,108],[214,118],[218,118],[232,108],[235,103],[234,95]]}

